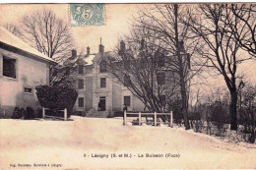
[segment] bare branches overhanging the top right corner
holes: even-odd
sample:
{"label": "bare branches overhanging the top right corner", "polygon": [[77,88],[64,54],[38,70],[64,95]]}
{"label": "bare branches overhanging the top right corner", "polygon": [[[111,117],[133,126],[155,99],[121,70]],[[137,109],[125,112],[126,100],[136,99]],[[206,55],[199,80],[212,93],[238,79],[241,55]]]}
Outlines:
{"label": "bare branches overhanging the top right corner", "polygon": [[256,4],[231,4],[228,6],[234,20],[228,21],[239,45],[256,57]]}

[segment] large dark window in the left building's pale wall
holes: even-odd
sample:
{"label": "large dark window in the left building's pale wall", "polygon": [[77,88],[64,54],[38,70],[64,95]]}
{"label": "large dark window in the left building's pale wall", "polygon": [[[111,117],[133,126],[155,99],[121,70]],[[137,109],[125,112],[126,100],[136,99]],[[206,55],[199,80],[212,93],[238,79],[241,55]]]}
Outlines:
{"label": "large dark window in the left building's pale wall", "polygon": [[3,76],[16,79],[16,59],[3,56]]}

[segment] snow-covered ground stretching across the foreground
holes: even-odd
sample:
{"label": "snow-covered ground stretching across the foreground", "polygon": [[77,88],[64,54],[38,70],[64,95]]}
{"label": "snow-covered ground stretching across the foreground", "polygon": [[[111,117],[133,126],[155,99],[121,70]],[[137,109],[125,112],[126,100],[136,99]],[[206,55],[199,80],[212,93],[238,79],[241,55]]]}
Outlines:
{"label": "snow-covered ground stretching across the foreground", "polygon": [[121,118],[72,119],[1,119],[0,169],[256,168],[256,144],[178,127],[123,126]]}

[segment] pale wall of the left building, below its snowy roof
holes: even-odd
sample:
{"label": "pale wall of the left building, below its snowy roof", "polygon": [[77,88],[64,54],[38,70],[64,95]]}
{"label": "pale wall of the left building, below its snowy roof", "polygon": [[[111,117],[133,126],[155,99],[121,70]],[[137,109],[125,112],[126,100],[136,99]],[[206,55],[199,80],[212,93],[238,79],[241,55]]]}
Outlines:
{"label": "pale wall of the left building, below its snowy roof", "polygon": [[[3,76],[3,56],[16,59],[16,79]],[[11,117],[16,106],[36,107],[35,86],[47,85],[48,73],[47,62],[0,48],[0,117]],[[32,88],[32,93],[26,93],[25,87]]]}

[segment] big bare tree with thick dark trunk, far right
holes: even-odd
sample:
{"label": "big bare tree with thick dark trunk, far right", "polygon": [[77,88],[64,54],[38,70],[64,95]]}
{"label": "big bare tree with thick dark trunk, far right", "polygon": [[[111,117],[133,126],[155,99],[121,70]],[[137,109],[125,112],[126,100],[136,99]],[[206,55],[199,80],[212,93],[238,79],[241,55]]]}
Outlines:
{"label": "big bare tree with thick dark trunk, far right", "polygon": [[[198,51],[206,59],[208,68],[213,68],[224,77],[230,93],[230,129],[237,129],[237,67],[247,56],[239,56],[240,45],[229,29],[235,16],[226,4],[203,4],[196,6],[198,13],[191,15],[187,25],[202,38],[205,47]],[[194,10],[195,11],[195,10]]]}

